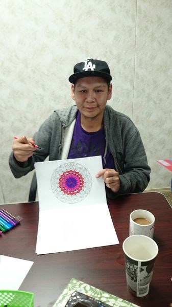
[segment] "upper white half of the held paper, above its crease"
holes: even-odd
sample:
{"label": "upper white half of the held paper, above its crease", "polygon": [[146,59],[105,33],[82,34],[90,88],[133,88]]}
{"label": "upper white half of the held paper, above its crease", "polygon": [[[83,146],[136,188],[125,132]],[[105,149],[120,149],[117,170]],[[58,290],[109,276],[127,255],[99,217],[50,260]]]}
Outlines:
{"label": "upper white half of the held paper, above its crease", "polygon": [[[59,190],[57,191],[59,196],[57,198],[52,191],[55,189],[54,179],[57,178],[58,185],[60,175],[65,173],[66,168],[68,169],[68,165],[69,168],[79,171],[79,173],[82,175],[85,180],[85,190],[82,190],[77,195],[69,195],[68,198],[64,192],[60,192]],[[90,202],[95,204],[106,203],[104,181],[102,178],[95,178],[96,173],[102,168],[101,156],[35,163],[39,195],[39,210],[42,211],[71,207],[71,202],[73,201],[75,201],[75,205],[79,207],[83,204],[89,204]],[[64,198],[63,201],[61,201],[62,198]]]}

